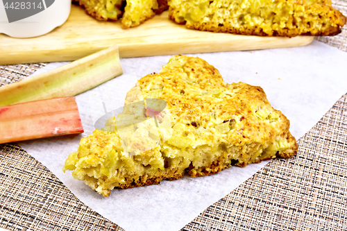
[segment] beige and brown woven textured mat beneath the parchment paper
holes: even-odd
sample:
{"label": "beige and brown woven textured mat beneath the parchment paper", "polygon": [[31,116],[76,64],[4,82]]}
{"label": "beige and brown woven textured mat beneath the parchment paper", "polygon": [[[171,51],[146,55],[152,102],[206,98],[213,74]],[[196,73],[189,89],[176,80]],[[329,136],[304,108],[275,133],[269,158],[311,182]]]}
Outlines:
{"label": "beige and brown woven textured mat beneath the parchment paper", "polygon": [[[335,1],[347,15],[347,1]],[[316,38],[347,51],[347,28]],[[45,64],[0,66],[8,85]],[[298,140],[298,155],[274,160],[182,230],[347,230],[347,94]],[[16,144],[0,144],[0,228],[123,230],[78,200]]]}

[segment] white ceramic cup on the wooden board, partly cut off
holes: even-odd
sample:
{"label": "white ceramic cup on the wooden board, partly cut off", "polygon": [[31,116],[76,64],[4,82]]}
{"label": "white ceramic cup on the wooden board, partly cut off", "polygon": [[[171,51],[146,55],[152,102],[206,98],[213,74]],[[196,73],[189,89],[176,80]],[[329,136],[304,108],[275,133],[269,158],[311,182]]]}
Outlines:
{"label": "white ceramic cup on the wooden board, partly cut off", "polygon": [[71,0],[1,0],[0,33],[35,37],[61,26],[69,17]]}

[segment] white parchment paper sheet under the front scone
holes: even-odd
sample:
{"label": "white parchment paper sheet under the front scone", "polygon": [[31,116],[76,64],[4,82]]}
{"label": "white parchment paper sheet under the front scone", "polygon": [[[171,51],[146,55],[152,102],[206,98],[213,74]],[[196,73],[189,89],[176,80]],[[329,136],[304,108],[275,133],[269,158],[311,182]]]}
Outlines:
{"label": "white parchment paper sheet under the front scone", "polygon": [[[298,139],[347,92],[347,53],[321,42],[291,49],[195,54],[214,65],[228,83],[245,82],[261,86],[271,105],[291,121],[291,133]],[[94,130],[94,123],[124,104],[126,92],[137,79],[160,71],[170,56],[124,58],[124,74],[76,96],[85,132],[78,136],[20,142],[36,160],[47,166],[81,200],[99,214],[127,231],[179,230],[230,193],[262,168],[266,162],[245,168],[231,167],[214,176],[162,181],[160,185],[135,189],[114,189],[108,198],[83,182],[63,173],[69,153],[78,148],[81,137]],[[52,63],[40,72],[62,65]]]}

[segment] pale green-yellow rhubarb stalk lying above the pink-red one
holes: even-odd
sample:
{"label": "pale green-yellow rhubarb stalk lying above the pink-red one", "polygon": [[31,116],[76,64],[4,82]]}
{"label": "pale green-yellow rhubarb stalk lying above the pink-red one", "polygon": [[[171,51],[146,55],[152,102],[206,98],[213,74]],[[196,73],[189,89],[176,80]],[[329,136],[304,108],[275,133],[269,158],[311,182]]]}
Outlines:
{"label": "pale green-yellow rhubarb stalk lying above the pink-red one", "polygon": [[123,73],[117,46],[0,87],[0,106],[76,96]]}

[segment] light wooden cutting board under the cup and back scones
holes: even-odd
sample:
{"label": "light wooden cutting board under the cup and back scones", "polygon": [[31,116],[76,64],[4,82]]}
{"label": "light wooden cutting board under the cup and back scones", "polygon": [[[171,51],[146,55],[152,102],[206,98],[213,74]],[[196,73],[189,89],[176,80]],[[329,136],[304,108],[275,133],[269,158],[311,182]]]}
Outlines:
{"label": "light wooden cutting board under the cup and back scones", "polygon": [[189,30],[169,20],[168,12],[135,28],[122,29],[120,22],[96,21],[72,5],[67,22],[47,35],[15,39],[0,34],[0,65],[76,60],[113,44],[125,58],[305,46],[313,39]]}

